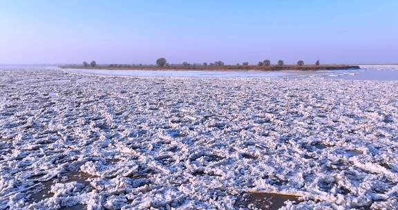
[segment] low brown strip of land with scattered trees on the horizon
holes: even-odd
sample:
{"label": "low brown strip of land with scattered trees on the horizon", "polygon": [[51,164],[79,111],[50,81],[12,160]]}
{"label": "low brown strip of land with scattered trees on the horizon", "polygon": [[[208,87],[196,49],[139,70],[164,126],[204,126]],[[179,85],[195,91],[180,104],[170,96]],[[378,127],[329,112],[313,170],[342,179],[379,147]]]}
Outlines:
{"label": "low brown strip of land with scattered trees on the horizon", "polygon": [[360,69],[352,65],[285,65],[285,66],[59,66],[59,68],[99,69],[99,70],[345,70]]}

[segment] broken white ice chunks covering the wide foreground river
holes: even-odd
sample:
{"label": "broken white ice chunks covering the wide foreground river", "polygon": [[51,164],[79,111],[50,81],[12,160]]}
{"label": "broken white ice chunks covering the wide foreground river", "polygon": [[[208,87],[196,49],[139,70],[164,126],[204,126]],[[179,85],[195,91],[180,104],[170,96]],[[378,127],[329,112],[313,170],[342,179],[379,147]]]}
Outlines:
{"label": "broken white ice chunks covering the wide foreground river", "polygon": [[0,70],[0,154],[0,209],[397,209],[398,82]]}

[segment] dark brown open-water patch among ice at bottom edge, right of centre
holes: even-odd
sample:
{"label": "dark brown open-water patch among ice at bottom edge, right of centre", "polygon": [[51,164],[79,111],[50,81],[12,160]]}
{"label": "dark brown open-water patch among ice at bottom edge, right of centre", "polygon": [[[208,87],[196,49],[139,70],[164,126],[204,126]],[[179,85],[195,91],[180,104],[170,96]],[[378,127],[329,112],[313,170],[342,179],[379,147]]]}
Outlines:
{"label": "dark brown open-water patch among ice at bottom edge, right of centre", "polygon": [[299,203],[299,196],[281,195],[276,193],[244,193],[236,202],[237,208],[273,210],[285,207],[285,202],[290,200]]}

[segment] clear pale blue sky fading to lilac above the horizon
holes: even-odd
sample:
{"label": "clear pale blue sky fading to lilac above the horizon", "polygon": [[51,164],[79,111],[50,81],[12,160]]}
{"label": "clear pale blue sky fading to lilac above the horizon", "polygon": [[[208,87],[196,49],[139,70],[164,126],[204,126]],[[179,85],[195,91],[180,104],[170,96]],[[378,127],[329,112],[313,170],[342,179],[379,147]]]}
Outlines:
{"label": "clear pale blue sky fading to lilac above the horizon", "polygon": [[0,64],[398,63],[397,0],[0,0]]}

